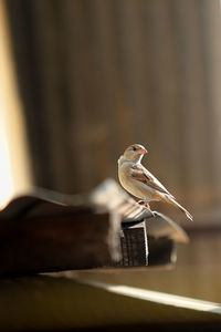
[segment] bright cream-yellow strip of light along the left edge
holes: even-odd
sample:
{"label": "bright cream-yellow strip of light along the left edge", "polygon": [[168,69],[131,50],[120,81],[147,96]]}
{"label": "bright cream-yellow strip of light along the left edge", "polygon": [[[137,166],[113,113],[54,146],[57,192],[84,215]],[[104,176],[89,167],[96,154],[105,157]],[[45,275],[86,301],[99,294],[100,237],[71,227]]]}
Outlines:
{"label": "bright cream-yellow strip of light along the left edge", "polygon": [[0,209],[31,187],[28,138],[18,92],[8,17],[0,1]]}

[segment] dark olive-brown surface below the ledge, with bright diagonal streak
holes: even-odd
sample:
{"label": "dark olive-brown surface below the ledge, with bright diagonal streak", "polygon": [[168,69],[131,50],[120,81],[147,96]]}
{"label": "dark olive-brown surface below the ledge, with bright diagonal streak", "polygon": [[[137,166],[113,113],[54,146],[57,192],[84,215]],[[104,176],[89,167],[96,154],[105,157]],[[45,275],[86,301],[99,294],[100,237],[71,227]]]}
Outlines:
{"label": "dark olive-brown surface below the ledge, with bright diagonal streak", "polygon": [[207,302],[203,308],[194,299],[56,273],[1,280],[0,309],[2,331],[189,331],[190,326],[218,328],[221,322],[219,303]]}

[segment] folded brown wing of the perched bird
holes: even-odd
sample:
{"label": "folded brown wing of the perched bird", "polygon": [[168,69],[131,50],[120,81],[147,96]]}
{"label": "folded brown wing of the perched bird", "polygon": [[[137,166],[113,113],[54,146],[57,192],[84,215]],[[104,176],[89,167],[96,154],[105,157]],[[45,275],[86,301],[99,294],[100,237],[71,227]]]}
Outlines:
{"label": "folded brown wing of the perched bird", "polygon": [[130,175],[133,178],[135,178],[138,181],[141,181],[143,184],[146,184],[150,188],[158,190],[162,194],[167,194],[170,197],[173,197],[166,188],[162,186],[162,184],[149,172],[147,170],[143,165],[135,164],[130,167]]}

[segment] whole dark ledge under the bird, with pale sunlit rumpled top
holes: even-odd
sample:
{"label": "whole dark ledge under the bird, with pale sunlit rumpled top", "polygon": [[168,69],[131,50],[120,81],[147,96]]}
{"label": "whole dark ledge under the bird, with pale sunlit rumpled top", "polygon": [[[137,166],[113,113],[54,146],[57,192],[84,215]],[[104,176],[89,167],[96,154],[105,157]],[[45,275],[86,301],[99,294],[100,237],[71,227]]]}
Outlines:
{"label": "whole dark ledge under the bird, with pale sunlit rumpled top", "polygon": [[[165,234],[162,221],[161,215],[147,212],[113,180],[84,196],[36,190],[0,211],[0,276],[147,267],[148,227],[150,263],[165,264],[171,262],[175,226],[169,232],[167,226]],[[154,240],[155,222],[160,229],[157,238],[161,235],[166,247]]]}

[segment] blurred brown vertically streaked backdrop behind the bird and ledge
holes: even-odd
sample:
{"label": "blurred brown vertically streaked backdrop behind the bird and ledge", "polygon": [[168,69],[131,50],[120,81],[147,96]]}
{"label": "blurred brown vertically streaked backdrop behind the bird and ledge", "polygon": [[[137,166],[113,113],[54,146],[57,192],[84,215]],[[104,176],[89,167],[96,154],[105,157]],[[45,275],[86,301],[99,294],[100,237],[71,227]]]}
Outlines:
{"label": "blurred brown vertically streaked backdrop behind the bird and ledge", "polygon": [[[1,0],[1,9],[12,59],[2,52],[2,64],[13,68],[19,101],[11,105],[12,90],[3,92],[6,72],[1,136],[10,176],[88,191],[117,179],[127,145],[145,145],[144,165],[194,217],[190,224],[172,207],[151,205],[181,222],[191,242],[179,249],[176,271],[164,272],[165,289],[155,271],[149,284],[221,301],[219,1]],[[137,272],[119,280],[148,287]]]}

